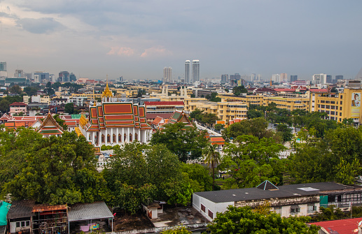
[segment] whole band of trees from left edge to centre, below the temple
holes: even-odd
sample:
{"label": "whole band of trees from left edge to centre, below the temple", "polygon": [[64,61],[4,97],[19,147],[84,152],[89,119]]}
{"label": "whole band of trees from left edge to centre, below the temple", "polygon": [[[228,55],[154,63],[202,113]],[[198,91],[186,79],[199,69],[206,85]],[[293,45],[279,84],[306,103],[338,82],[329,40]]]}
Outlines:
{"label": "whole band of trees from left edge to centre, below the temple", "polygon": [[32,129],[1,130],[2,197],[50,205],[104,200],[134,213],[153,200],[186,205],[193,192],[212,189],[206,168],[181,163],[162,144],[118,147],[99,173],[93,146],[74,132],[42,138]]}

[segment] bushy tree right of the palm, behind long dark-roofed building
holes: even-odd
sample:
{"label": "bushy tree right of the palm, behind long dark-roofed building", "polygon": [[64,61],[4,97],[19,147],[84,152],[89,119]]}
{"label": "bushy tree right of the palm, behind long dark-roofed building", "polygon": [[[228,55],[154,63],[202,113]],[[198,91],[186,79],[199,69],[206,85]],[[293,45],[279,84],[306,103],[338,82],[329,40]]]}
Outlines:
{"label": "bushy tree right of the palm, behind long dark-roofed building", "polygon": [[239,136],[235,144],[228,144],[220,170],[228,170],[225,189],[256,187],[264,180],[279,184],[282,180],[284,161],[278,153],[284,149],[272,138],[258,139],[255,136]]}

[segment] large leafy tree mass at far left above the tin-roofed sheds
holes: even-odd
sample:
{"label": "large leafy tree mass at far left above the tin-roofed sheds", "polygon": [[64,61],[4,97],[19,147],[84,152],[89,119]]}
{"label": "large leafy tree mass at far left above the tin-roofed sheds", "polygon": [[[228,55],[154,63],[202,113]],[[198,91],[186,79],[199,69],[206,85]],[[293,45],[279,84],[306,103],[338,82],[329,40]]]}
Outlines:
{"label": "large leafy tree mass at far left above the tin-roofed sheds", "polygon": [[[14,137],[10,134],[5,134],[5,141],[15,138],[15,142],[24,142],[26,146],[11,150],[1,159],[6,165],[15,159],[24,159],[15,164],[18,168],[9,170],[15,177],[11,179],[10,175],[2,174],[6,179],[3,194],[11,193],[16,200],[30,199],[50,205],[109,199],[106,182],[96,170],[92,145],[84,137],[67,132],[58,138],[41,138],[40,134],[27,131]],[[31,137],[34,139],[29,139]],[[2,147],[9,148],[7,144]],[[13,156],[15,159],[11,159]]]}

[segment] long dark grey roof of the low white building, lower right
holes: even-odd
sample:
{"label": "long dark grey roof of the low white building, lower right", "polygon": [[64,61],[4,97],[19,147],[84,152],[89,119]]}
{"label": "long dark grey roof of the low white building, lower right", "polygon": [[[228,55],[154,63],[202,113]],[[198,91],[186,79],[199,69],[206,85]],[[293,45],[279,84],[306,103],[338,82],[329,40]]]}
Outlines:
{"label": "long dark grey roof of the low white building, lower right", "polygon": [[220,191],[205,191],[195,193],[214,203],[227,203],[242,200],[258,200],[269,198],[288,198],[295,196],[311,196],[326,194],[326,191],[353,189],[353,187],[335,182],[320,182],[309,184],[288,184],[279,189],[262,190],[257,188],[229,189]]}

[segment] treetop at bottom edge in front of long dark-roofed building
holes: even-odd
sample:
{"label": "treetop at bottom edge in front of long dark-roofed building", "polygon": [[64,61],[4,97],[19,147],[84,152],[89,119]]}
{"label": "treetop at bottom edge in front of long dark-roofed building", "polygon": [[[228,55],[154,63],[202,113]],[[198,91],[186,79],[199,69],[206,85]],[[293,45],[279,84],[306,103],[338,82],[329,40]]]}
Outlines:
{"label": "treetop at bottom edge in front of long dark-roofed building", "polygon": [[249,233],[309,233],[316,234],[319,226],[307,226],[310,217],[281,217],[274,212],[260,214],[253,212],[251,207],[229,206],[224,213],[217,213],[209,231],[218,234],[249,234]]}

